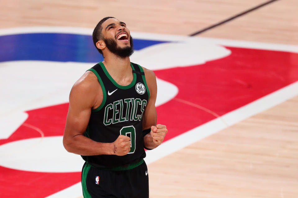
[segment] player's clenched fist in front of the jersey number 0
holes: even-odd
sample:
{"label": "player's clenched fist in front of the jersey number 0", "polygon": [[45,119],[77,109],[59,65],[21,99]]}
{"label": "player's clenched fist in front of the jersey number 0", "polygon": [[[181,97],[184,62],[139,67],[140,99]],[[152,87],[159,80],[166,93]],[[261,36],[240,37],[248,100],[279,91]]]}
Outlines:
{"label": "player's clenched fist in front of the jersey number 0", "polygon": [[113,142],[113,155],[126,155],[130,151],[130,137],[120,135],[117,140]]}

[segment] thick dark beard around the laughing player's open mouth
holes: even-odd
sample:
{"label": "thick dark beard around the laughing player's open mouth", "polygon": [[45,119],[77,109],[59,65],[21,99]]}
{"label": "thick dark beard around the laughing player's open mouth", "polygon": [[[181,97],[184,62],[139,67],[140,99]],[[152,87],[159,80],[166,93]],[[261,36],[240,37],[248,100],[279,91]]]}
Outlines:
{"label": "thick dark beard around the laughing player's open mouth", "polygon": [[104,38],[103,41],[106,43],[106,47],[110,50],[110,52],[119,56],[120,58],[126,58],[131,56],[134,52],[133,38],[131,36],[129,37],[130,37],[129,39],[130,46],[126,46],[126,47],[118,47],[117,42],[112,38],[109,38],[109,39]]}

